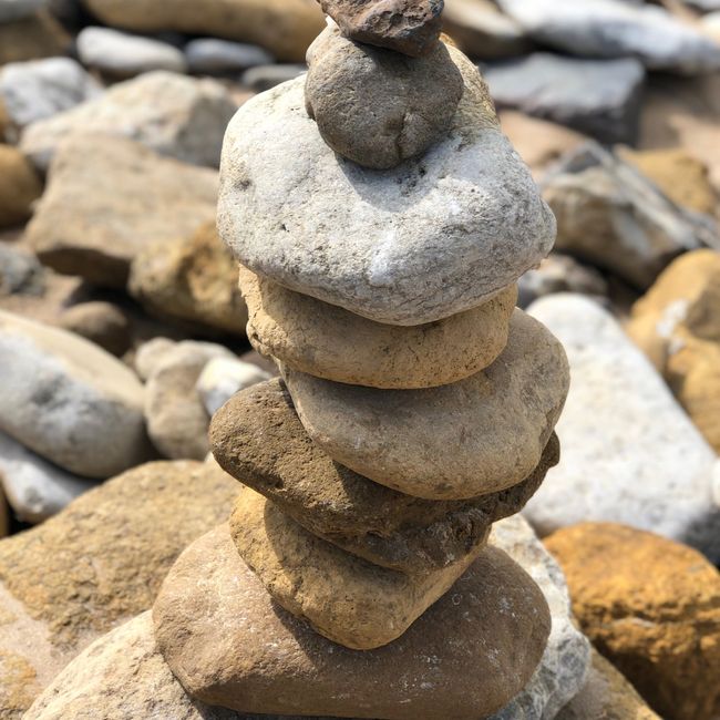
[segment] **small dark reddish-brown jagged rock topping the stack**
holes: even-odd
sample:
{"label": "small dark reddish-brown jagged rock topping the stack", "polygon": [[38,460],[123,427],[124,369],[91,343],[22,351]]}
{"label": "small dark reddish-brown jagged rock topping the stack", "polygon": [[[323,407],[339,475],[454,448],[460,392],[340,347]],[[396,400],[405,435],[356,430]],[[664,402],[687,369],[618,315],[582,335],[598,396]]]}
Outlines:
{"label": "small dark reddish-brown jagged rock topping the stack", "polygon": [[443,0],[318,0],[342,34],[418,58],[438,43]]}

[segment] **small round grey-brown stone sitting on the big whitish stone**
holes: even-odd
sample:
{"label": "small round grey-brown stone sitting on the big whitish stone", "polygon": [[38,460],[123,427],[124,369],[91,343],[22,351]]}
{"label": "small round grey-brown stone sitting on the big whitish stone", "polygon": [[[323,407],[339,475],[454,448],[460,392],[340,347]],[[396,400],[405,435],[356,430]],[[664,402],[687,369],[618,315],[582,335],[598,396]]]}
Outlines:
{"label": "small round grey-brown stone sitting on the big whitish stone", "polygon": [[408,59],[328,28],[310,45],[308,65],[306,109],[322,138],[342,157],[374,169],[397,167],[444,137],[464,90],[442,42]]}

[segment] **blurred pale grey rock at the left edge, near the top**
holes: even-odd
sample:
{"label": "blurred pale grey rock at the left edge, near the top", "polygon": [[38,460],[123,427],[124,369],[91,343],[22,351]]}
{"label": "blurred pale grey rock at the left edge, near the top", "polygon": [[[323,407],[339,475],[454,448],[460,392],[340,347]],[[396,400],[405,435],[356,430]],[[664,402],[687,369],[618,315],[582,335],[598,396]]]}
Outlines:
{"label": "blurred pale grey rock at the left edge, near the top", "polygon": [[12,62],[0,69],[0,101],[16,140],[32,123],[101,94],[101,84],[71,58]]}

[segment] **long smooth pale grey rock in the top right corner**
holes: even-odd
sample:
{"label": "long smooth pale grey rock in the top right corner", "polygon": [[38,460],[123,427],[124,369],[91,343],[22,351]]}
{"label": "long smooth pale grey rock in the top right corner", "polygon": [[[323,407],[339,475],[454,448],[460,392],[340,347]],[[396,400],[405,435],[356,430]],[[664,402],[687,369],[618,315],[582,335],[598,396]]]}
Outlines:
{"label": "long smooth pale grey rock in the top right corner", "polygon": [[720,45],[661,8],[623,0],[497,0],[537,41],[595,58],[635,56],[650,70],[720,70]]}

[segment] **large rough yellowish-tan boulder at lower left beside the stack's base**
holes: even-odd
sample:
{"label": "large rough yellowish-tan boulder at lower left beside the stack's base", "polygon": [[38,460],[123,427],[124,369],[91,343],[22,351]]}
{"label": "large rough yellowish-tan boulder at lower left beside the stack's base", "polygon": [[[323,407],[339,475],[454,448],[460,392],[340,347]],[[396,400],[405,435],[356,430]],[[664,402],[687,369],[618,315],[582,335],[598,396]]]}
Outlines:
{"label": "large rough yellowish-tan boulder at lower left beside the stack's base", "polygon": [[19,720],[83,648],[148,609],[179,552],[227,516],[236,494],[212,466],[150,463],[0,542],[0,707],[17,701],[3,718]]}

